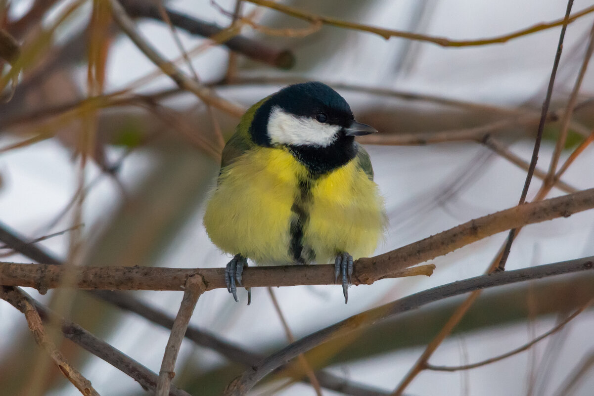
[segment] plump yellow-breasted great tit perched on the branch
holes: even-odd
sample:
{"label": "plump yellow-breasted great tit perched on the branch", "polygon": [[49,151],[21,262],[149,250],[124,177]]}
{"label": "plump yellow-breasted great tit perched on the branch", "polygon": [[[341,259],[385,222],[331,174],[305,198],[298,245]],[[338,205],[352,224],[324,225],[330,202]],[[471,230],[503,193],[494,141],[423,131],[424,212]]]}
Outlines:
{"label": "plump yellow-breasted great tit perched on the branch", "polygon": [[[249,107],[223,148],[203,223],[233,255],[228,292],[257,265],[330,264],[345,303],[353,261],[371,255],[387,226],[371,159],[346,100],[319,81],[288,85]],[[248,305],[251,290],[248,289]]]}

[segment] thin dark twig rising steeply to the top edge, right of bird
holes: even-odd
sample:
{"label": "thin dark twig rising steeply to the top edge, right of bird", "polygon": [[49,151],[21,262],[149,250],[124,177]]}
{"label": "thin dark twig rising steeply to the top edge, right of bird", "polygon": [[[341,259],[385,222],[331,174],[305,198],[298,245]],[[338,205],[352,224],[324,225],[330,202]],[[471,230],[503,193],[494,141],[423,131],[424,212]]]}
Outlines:
{"label": "thin dark twig rising steeply to the top edge, right of bird", "polygon": [[[563,51],[563,40],[565,39],[565,30],[567,30],[567,24],[569,23],[571,7],[573,7],[573,0],[568,0],[567,9],[565,9],[565,18],[563,19],[563,27],[561,28],[561,33],[559,34],[559,43],[557,44],[555,61],[553,62],[551,77],[549,78],[549,86],[548,88],[546,88],[546,97],[544,102],[542,103],[541,121],[538,124],[538,131],[536,132],[536,140],[534,141],[534,149],[532,150],[532,159],[530,159],[530,166],[526,174],[524,187],[522,188],[522,195],[520,195],[519,205],[522,205],[524,202],[526,202],[528,188],[530,187],[532,175],[534,173],[534,170],[536,169],[536,161],[538,161],[538,153],[541,149],[542,132],[545,129],[546,116],[549,112],[549,104],[551,103],[551,96],[553,93],[553,87],[555,85],[555,76],[557,75],[557,68],[559,67],[559,62],[561,60],[561,52]],[[498,271],[505,270],[505,262],[507,262],[507,258],[510,255],[511,244],[514,242],[514,239],[516,238],[516,232],[517,230],[515,228],[511,229],[510,233],[507,236],[505,248],[503,249],[503,254],[501,254],[501,259],[498,264]]]}

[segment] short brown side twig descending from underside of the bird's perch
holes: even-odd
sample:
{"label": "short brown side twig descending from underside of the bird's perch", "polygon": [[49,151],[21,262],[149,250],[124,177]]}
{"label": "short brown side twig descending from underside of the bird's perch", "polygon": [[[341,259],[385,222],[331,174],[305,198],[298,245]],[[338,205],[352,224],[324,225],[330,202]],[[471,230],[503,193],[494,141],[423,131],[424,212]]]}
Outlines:
{"label": "short brown side twig descending from underside of the bird's perch", "polygon": [[175,360],[178,358],[179,347],[181,347],[182,340],[188,329],[189,319],[192,317],[192,312],[198,297],[204,291],[203,280],[200,275],[194,275],[188,278],[185,283],[184,298],[179,306],[178,315],[175,316],[169,340],[165,347],[165,354],[163,354],[163,362],[159,370],[159,381],[157,382],[156,396],[169,395],[169,388],[171,380],[175,376]]}

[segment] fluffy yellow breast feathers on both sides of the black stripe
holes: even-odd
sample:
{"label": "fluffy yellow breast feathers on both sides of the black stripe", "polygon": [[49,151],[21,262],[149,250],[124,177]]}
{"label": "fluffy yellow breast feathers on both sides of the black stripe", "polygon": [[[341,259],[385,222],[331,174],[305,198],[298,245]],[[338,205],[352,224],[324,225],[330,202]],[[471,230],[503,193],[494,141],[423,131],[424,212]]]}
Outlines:
{"label": "fluffy yellow breast feathers on both sides of the black stripe", "polygon": [[[262,265],[292,264],[290,224],[299,180],[307,169],[288,151],[258,147],[226,167],[208,201],[204,226],[222,251],[242,254]],[[326,263],[338,252],[371,255],[386,224],[377,185],[350,161],[309,180],[302,245]]]}

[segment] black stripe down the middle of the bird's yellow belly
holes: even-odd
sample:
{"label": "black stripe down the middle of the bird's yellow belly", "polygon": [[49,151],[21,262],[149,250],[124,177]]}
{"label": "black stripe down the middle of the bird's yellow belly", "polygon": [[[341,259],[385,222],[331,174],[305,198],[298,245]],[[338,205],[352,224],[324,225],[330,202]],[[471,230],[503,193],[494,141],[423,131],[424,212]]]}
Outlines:
{"label": "black stripe down the middle of the bird's yellow belly", "polygon": [[[308,205],[311,203],[311,181],[299,180],[299,192],[295,196],[295,201],[291,206],[293,216],[291,216],[289,233],[291,236],[289,244],[290,256],[299,264],[305,264],[305,259],[302,257],[303,233],[304,227],[309,220]],[[311,250],[311,249],[309,249]],[[308,259],[312,260],[314,254],[308,252]]]}

